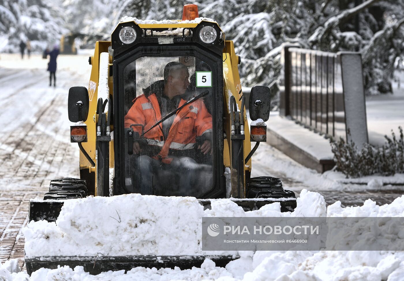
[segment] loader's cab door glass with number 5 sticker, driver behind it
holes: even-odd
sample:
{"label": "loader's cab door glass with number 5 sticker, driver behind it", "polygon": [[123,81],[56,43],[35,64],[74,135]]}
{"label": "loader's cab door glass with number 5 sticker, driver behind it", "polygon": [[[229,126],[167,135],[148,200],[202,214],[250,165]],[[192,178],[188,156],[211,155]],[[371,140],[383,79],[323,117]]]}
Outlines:
{"label": "loader's cab door glass with number 5 sticker, driver behind it", "polygon": [[125,186],[143,195],[213,189],[213,73],[192,56],[141,57],[124,68]]}

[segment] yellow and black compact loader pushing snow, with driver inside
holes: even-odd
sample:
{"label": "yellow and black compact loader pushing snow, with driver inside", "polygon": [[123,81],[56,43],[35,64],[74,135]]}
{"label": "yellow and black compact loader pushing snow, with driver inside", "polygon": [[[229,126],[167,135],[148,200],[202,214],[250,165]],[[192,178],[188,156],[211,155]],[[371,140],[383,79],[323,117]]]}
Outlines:
{"label": "yellow and black compact loader pushing snow, with driver inside", "polygon": [[[244,210],[277,201],[282,211],[295,208],[295,194],[284,190],[280,179],[250,178],[251,156],[266,141],[269,88],[251,89],[249,114],[254,123],[249,128],[240,57],[215,21],[198,18],[196,5],[185,5],[182,21],[122,19],[111,41],[96,42],[89,63],[88,89],[70,88],[68,102],[69,120],[76,122],[71,141],[80,147],[80,179],[53,180],[43,201],[30,202],[29,220],[56,220],[63,202],[49,199],[126,193],[194,196],[205,208],[209,199],[226,197]],[[179,67],[178,77],[169,72],[171,66]],[[178,88],[179,95],[169,96],[167,85]],[[163,114],[163,103],[173,101],[174,110]],[[251,141],[256,142],[253,149]],[[203,153],[204,145],[210,145],[212,153]],[[184,165],[174,166],[184,159]],[[150,162],[160,164],[149,171],[145,165]],[[149,182],[147,173],[152,173]],[[97,273],[160,266],[161,261],[164,266],[190,268],[205,257],[159,258],[103,257],[96,266],[93,257],[41,256],[25,264],[29,273],[58,264],[82,265]],[[220,265],[235,257],[210,258]]]}

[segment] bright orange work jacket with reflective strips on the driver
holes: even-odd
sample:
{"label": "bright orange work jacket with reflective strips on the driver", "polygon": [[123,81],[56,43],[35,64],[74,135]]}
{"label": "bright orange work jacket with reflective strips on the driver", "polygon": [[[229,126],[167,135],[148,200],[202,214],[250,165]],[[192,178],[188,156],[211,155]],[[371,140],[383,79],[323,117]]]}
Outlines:
{"label": "bright orange work jacket with reflective strips on the driver", "polygon": [[[181,99],[178,107],[181,107],[186,102]],[[134,100],[134,104],[126,114],[124,126],[129,128],[131,124],[143,124],[144,131],[147,131],[161,118],[156,94],[151,94],[148,97],[142,94]],[[197,136],[202,136],[202,134],[212,131],[212,115],[206,109],[204,102],[197,100],[176,113],[166,139],[164,139],[160,126],[154,127],[143,137],[147,140],[148,145],[161,147],[160,153],[156,156],[162,162],[169,163],[172,159],[164,161],[169,149],[192,149],[196,143]],[[139,135],[142,134],[140,126],[133,126],[132,128],[134,131],[139,132]]]}

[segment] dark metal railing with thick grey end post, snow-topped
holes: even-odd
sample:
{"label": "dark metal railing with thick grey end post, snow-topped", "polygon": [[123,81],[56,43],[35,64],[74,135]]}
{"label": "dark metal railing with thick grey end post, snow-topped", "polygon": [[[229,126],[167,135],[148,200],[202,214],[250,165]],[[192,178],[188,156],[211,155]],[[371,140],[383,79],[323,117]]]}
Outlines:
{"label": "dark metal railing with thick grey end post, snow-topped", "polygon": [[360,53],[284,44],[281,63],[281,116],[326,136],[368,141]]}

